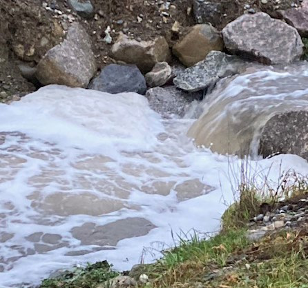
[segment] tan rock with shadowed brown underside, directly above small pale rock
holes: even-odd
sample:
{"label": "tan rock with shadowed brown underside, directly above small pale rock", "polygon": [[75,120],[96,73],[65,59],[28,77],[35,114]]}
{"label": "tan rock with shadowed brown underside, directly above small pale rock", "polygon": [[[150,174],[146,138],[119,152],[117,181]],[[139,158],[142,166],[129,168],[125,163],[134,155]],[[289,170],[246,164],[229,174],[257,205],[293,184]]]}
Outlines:
{"label": "tan rock with shadowed brown underside, directly above small pale rock", "polygon": [[156,63],[171,60],[170,48],[164,37],[138,42],[122,34],[111,52],[116,60],[135,64],[143,73],[150,72]]}

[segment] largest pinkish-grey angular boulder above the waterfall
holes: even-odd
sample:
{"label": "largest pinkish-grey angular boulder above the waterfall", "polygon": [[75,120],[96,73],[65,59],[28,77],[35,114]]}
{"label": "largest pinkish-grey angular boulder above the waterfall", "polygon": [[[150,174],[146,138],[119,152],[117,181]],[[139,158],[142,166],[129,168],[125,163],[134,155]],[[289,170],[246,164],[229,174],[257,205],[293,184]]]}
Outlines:
{"label": "largest pinkish-grey angular boulder above the waterfall", "polygon": [[285,64],[300,59],[302,40],[295,28],[268,14],[244,14],[223,30],[224,45],[263,64]]}

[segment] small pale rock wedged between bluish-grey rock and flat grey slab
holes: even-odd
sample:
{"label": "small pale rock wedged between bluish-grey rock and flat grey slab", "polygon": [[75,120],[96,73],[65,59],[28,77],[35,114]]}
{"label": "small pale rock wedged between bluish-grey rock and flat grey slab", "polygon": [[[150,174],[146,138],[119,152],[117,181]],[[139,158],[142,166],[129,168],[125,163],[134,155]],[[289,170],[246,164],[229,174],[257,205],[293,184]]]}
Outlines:
{"label": "small pale rock wedged between bluish-grey rock and flat grey slab", "polygon": [[157,87],[171,80],[172,68],[166,62],[156,63],[151,72],[146,73],[146,83],[149,87]]}

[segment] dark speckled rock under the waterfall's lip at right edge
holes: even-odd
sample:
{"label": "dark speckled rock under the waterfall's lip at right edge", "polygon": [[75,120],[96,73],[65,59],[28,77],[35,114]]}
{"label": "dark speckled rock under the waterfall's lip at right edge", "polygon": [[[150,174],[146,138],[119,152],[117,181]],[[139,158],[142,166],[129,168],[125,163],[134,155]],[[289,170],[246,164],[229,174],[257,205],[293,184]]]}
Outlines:
{"label": "dark speckled rock under the waterfall's lip at right edge", "polygon": [[259,154],[296,154],[308,160],[308,111],[276,114],[264,125]]}

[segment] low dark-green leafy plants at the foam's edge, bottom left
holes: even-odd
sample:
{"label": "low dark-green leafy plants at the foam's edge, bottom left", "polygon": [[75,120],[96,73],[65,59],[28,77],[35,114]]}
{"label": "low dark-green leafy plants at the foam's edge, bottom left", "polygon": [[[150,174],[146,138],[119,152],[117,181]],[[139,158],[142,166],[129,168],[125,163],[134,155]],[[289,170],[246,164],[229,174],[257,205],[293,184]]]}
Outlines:
{"label": "low dark-green leafy plants at the foam's edge, bottom left", "polygon": [[48,278],[41,283],[40,288],[95,288],[118,275],[107,261],[102,261],[86,267],[75,267],[56,278]]}

